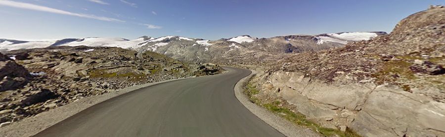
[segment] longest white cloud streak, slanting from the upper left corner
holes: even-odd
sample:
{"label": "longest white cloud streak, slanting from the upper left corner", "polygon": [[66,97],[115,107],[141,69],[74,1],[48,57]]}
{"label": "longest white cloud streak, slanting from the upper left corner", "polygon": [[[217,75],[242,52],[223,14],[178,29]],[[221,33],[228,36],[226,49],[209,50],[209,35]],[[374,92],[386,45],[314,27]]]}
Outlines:
{"label": "longest white cloud streak, slanting from the upper left corner", "polygon": [[55,13],[55,14],[70,15],[70,16],[76,16],[76,17],[81,17],[81,18],[89,18],[89,19],[95,19],[95,20],[101,20],[101,21],[125,22],[123,20],[114,19],[114,18],[81,14],[81,13],[73,13],[73,12],[69,12],[69,11],[65,11],[65,10],[60,10],[60,9],[30,4],[30,3],[24,3],[24,2],[10,1],[10,0],[0,0],[0,5],[16,7],[16,8],[23,8],[23,9],[30,9],[30,10],[37,10],[37,11],[44,11],[44,12]]}

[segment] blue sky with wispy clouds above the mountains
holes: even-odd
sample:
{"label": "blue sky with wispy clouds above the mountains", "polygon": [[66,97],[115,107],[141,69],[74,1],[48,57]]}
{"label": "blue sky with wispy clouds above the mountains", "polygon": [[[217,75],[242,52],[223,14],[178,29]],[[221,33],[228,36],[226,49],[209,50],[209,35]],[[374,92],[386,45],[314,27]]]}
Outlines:
{"label": "blue sky with wispy clouds above the mountains", "polygon": [[0,0],[0,38],[391,32],[445,0]]}

